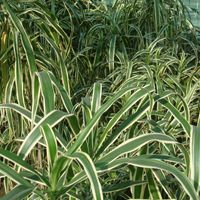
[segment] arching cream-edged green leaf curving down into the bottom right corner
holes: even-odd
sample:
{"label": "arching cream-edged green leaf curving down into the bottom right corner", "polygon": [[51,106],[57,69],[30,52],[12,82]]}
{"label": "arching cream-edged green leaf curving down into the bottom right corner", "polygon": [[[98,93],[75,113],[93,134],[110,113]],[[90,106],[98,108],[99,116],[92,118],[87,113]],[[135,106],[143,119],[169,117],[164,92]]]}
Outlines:
{"label": "arching cream-edged green leaf curving down into the bottom right corner", "polygon": [[150,169],[160,169],[160,170],[165,170],[167,172],[170,172],[173,174],[179,183],[183,186],[185,192],[191,197],[192,200],[198,200],[198,194],[195,191],[195,188],[193,187],[192,183],[188,179],[186,175],[184,175],[181,171],[176,169],[174,166],[171,166],[170,164],[167,164],[165,162],[162,162],[160,160],[155,160],[155,159],[145,159],[145,158],[121,158],[118,160],[115,160],[109,164],[103,164],[99,166],[97,171],[104,171],[104,170],[111,170],[114,169],[120,165],[133,165],[137,167],[142,167],[142,168],[150,168]]}

